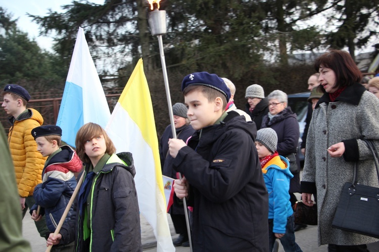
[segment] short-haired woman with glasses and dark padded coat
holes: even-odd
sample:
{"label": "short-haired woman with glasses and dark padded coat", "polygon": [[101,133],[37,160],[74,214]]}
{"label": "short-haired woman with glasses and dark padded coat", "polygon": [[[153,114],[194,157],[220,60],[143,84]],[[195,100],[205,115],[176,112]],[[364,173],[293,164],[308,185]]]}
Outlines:
{"label": "short-haired woman with glasses and dark padded coat", "polygon": [[[278,137],[277,152],[283,157],[296,157],[297,167],[300,161],[297,158],[297,149],[300,137],[299,123],[296,114],[287,106],[287,94],[280,90],[272,91],[268,96],[268,113],[262,119],[262,129],[271,128]],[[294,172],[290,180],[290,201],[292,206],[297,199],[294,193],[300,193],[300,172]],[[296,230],[295,230],[296,231]]]}

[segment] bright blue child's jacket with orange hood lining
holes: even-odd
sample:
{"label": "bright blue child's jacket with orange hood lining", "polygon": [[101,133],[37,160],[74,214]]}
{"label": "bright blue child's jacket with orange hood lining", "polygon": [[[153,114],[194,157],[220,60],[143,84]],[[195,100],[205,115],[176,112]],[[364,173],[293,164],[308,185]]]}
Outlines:
{"label": "bright blue child's jacket with orange hood lining", "polygon": [[288,193],[294,175],[289,167],[285,157],[276,156],[262,168],[268,192],[268,219],[274,220],[272,231],[279,234],[286,233],[287,218],[294,213]]}

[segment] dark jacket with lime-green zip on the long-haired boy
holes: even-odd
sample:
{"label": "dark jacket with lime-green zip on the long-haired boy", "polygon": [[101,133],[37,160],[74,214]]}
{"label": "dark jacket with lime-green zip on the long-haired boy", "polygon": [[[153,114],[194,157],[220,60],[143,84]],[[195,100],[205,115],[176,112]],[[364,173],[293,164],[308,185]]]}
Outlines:
{"label": "dark jacket with lime-green zip on the long-haired boy", "polygon": [[[91,209],[91,237],[83,240],[83,220],[86,216],[78,216],[78,207],[76,221],[62,226],[62,242],[69,243],[75,240],[76,251],[142,250],[133,159],[128,152],[117,154],[126,166],[115,156],[113,154],[109,158],[94,178],[92,201],[87,203],[87,207]],[[84,172],[87,172],[87,169]],[[76,205],[76,202],[74,204]]]}

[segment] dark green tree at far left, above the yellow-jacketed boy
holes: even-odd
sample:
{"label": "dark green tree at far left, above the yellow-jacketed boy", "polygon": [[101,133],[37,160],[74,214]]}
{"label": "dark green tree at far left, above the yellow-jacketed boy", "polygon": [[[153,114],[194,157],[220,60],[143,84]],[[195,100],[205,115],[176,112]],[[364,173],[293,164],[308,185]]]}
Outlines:
{"label": "dark green tree at far left, above the yellow-jacketed boy", "polygon": [[63,73],[54,55],[42,51],[36,41],[18,29],[16,21],[0,7],[0,84],[63,85]]}

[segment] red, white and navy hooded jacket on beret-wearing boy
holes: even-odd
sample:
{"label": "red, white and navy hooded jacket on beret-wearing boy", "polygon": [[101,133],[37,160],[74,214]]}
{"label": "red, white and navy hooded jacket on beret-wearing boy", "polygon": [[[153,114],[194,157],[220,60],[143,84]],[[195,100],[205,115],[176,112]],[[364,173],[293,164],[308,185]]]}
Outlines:
{"label": "red, white and navy hooded jacket on beret-wearing boy", "polygon": [[[41,206],[40,214],[46,216],[46,225],[51,232],[55,231],[75,190],[74,172],[79,172],[81,168],[82,162],[68,145],[62,146],[61,151],[45,163],[42,183],[34,188],[35,204],[30,209],[30,213],[37,210],[38,205]],[[71,207],[65,221],[70,220],[72,214]]]}

